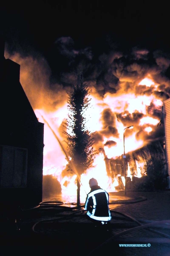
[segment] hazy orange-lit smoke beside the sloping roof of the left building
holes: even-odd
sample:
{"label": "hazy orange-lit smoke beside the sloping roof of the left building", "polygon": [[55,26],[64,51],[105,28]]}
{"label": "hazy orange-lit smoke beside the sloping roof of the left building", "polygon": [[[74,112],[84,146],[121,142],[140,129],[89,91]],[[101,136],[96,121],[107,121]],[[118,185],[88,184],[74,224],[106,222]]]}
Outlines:
{"label": "hazy orange-lit smoke beside the sloping roof of the left building", "polygon": [[10,55],[5,52],[5,58],[20,64],[20,83],[33,109],[54,111],[65,104],[67,93],[60,84],[50,87],[51,69],[43,57],[23,57],[20,53]]}

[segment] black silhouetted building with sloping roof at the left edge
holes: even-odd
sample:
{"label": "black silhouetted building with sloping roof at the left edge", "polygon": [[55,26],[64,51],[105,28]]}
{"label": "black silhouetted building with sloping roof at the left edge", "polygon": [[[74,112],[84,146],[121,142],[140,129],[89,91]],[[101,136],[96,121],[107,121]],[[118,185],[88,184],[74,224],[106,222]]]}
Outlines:
{"label": "black silhouetted building with sloping roof at the left edge", "polygon": [[42,201],[44,124],[20,84],[20,65],[0,41],[0,204],[35,207]]}

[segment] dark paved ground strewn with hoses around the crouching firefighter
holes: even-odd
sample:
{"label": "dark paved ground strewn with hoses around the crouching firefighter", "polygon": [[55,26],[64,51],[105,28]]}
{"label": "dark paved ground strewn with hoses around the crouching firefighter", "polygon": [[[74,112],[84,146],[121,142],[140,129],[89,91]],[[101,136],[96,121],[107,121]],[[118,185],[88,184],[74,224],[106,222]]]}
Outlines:
{"label": "dark paved ground strewn with hoses around the crouching firefighter", "polygon": [[[9,256],[12,249],[24,256],[170,256],[170,191],[110,193],[109,207],[111,233],[95,230],[85,218],[83,205],[77,209],[75,204],[56,203],[28,210],[18,224],[20,231],[1,234],[0,255]],[[162,222],[152,224],[152,231],[140,227],[153,221]]]}

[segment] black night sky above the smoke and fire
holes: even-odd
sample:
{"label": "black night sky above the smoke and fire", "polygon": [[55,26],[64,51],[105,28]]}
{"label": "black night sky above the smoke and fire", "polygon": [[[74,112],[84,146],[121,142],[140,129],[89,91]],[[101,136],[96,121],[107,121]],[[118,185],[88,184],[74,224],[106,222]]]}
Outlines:
{"label": "black night sky above the smoke and fire", "polygon": [[[53,82],[82,60],[101,66],[99,57],[113,51],[128,54],[138,47],[170,52],[165,1],[11,1],[0,10],[8,52],[43,56]],[[86,78],[90,70],[85,70]]]}

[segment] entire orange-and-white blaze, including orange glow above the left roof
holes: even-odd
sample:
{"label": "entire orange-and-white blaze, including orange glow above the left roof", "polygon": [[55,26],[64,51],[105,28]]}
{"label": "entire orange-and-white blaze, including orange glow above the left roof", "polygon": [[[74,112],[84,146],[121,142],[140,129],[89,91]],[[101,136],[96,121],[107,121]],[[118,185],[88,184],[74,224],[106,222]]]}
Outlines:
{"label": "entire orange-and-white blaze, including orange glow above the left roof", "polygon": [[[6,53],[7,57],[8,54]],[[62,133],[63,122],[68,117],[67,93],[59,84],[55,85],[52,93],[48,88],[49,81],[41,77],[33,82],[31,73],[35,72],[33,67],[40,70],[39,64],[30,58],[21,58],[20,55],[10,56],[13,61],[21,65],[20,82],[31,102],[39,122],[44,123],[44,153],[43,153],[43,175],[53,175],[57,178],[62,187],[62,195],[76,195],[76,170],[74,173],[66,172],[65,168],[69,161],[64,143],[65,137]],[[40,64],[42,66],[42,64]],[[40,73],[40,71],[39,71]],[[95,134],[94,148],[99,154],[94,159],[94,167],[88,169],[81,175],[81,201],[85,201],[86,193],[89,192],[88,181],[91,177],[98,180],[99,186],[108,191],[115,191],[119,185],[119,177],[108,175],[107,160],[116,159],[123,155],[123,138],[125,135],[125,154],[141,148],[147,140],[153,139],[153,133],[160,121],[160,115],[153,114],[154,111],[161,113],[163,102],[157,96],[157,89],[160,84],[155,83],[151,74],[141,78],[134,83],[134,78],[129,80],[126,76],[119,77],[119,90],[117,93],[106,92],[104,96],[99,94],[93,82],[91,89],[91,108],[86,112],[87,128]],[[34,76],[35,77],[35,76]],[[71,76],[70,76],[70,79]],[[133,87],[128,87],[127,82],[133,82]],[[36,84],[35,84],[36,83]],[[111,84],[111,86],[113,86]],[[125,90],[126,87],[126,90]],[[151,88],[151,90],[150,90]],[[139,90],[139,93],[136,91]],[[143,91],[145,93],[143,93]],[[154,93],[155,92],[155,93]],[[133,125],[132,130],[126,129]],[[99,150],[102,148],[102,151]],[[146,164],[144,161],[136,161],[136,177],[145,175]],[[134,173],[134,170],[133,170]],[[123,176],[123,175],[122,175]],[[128,163],[127,176],[132,178],[130,165]],[[124,183],[124,177],[122,177]]]}

